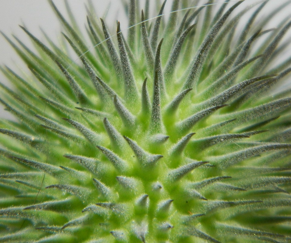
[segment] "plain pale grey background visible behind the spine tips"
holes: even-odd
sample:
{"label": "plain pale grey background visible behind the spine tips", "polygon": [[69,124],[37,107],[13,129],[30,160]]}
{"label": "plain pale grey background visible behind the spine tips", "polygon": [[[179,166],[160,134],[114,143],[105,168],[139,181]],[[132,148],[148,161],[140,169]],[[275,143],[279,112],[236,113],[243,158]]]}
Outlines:
{"label": "plain pale grey background visible behind the spine tips", "polygon": [[[150,0],[151,7],[153,8],[154,2],[156,0]],[[189,0],[191,1],[191,0]],[[61,0],[54,0],[57,8],[61,13],[67,17],[64,2]],[[86,9],[84,7],[87,1],[82,0],[68,0],[69,5],[79,23],[81,29],[84,29],[84,24],[86,21]],[[96,15],[103,16],[103,13],[106,11],[106,8],[109,6],[109,14],[106,18],[108,25],[112,24],[112,28],[116,26],[116,20],[118,19],[121,22],[122,30],[126,29],[127,21],[121,4],[121,0],[92,0],[96,8]],[[144,6],[144,0],[139,1],[141,8]],[[197,1],[194,1],[197,2]],[[200,1],[200,4],[203,4],[207,1]],[[223,0],[215,0],[215,3],[222,3]],[[235,2],[235,1],[231,1]],[[253,4],[254,0],[246,0],[240,7]],[[267,13],[276,6],[286,2],[285,0],[270,0],[265,6],[264,11]],[[168,13],[171,9],[172,1],[168,0],[166,3],[164,13]],[[218,4],[219,5],[219,4]],[[194,5],[195,6],[195,3]],[[230,6],[230,4],[228,5]],[[277,24],[283,18],[286,18],[288,14],[291,13],[291,4],[287,9],[282,11],[280,14],[276,15],[276,18],[269,23],[266,28],[276,27]],[[155,16],[156,11],[152,9],[151,16]],[[290,15],[291,16],[291,15]],[[166,17],[166,16],[165,16]],[[46,0],[0,0],[0,30],[4,32],[8,37],[11,37],[11,34],[15,34],[20,40],[23,40],[29,47],[31,46],[29,38],[23,32],[23,30],[18,27],[18,24],[25,25],[28,30],[30,30],[35,36],[39,39],[44,40],[39,27],[41,27],[54,41],[57,41],[57,38],[60,36],[61,25],[58,22],[53,10]],[[291,30],[289,31],[289,33]],[[86,33],[84,31],[84,33]],[[12,38],[12,37],[11,37]],[[13,39],[13,38],[12,38]],[[290,56],[291,47],[289,48],[288,55]],[[12,50],[11,46],[6,42],[6,40],[0,36],[0,65],[7,65],[13,70],[17,70],[18,67],[23,67],[18,56]],[[24,66],[25,67],[25,66]],[[0,82],[7,84],[3,75],[0,74]],[[3,107],[0,106],[0,117],[9,117],[8,113],[3,110]]]}

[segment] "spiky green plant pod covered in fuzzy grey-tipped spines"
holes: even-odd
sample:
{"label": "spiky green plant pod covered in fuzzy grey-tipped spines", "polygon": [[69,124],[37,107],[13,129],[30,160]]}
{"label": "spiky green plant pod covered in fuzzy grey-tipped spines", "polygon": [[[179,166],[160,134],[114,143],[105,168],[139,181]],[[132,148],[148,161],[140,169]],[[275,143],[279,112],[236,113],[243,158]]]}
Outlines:
{"label": "spiky green plant pod covered in fuzzy grey-tipped spines", "polygon": [[1,242],[291,241],[291,92],[271,95],[290,72],[273,63],[290,22],[268,34],[266,2],[237,15],[241,2],[209,5],[127,41],[118,24],[98,44],[106,25],[89,14],[87,51],[50,3],[82,63],[25,28],[37,54],[4,35],[32,74],[2,68],[15,88],[1,85],[0,101],[18,122],[1,120]]}

